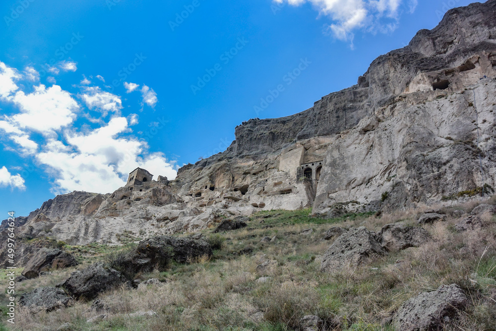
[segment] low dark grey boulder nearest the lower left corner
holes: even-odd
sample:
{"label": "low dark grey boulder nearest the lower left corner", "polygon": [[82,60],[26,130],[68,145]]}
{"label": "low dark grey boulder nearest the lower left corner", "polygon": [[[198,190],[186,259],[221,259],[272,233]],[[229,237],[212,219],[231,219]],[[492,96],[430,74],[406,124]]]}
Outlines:
{"label": "low dark grey boulder nearest the lower left corner", "polygon": [[67,307],[70,297],[62,288],[39,287],[29,293],[24,293],[19,299],[19,306],[47,312]]}

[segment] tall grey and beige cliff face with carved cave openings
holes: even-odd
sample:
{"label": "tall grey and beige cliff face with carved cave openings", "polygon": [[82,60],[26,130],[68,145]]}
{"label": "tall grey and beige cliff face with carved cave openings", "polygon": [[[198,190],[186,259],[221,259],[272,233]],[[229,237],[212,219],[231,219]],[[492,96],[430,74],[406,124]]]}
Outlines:
{"label": "tall grey and beige cliff face with carved cave openings", "polygon": [[258,210],[313,206],[333,216],[492,194],[495,77],[496,0],[456,8],[379,56],[357,85],[304,112],[243,123],[225,152],[188,164],[176,180],[61,195],[19,229],[117,243]]}

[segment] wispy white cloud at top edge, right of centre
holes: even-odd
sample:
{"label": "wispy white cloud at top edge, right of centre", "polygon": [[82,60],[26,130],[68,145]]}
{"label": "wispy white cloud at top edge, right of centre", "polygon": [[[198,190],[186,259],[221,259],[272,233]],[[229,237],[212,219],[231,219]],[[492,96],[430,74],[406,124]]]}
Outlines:
{"label": "wispy white cloud at top edge, right of centre", "polygon": [[[353,42],[354,31],[389,32],[396,28],[402,0],[275,0],[301,5],[310,2],[320,15],[329,17],[332,35],[342,41]],[[417,0],[408,0],[409,12],[413,12]],[[385,20],[385,21],[384,21]]]}

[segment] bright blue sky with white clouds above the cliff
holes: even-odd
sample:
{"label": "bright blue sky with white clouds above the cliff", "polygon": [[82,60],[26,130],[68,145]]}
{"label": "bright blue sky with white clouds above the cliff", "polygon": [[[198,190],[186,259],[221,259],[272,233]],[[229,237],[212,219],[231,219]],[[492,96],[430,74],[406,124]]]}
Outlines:
{"label": "bright blue sky with white clouds above the cliff", "polygon": [[73,190],[113,192],[136,167],[174,179],[243,121],[356,84],[468,3],[3,0],[0,219]]}

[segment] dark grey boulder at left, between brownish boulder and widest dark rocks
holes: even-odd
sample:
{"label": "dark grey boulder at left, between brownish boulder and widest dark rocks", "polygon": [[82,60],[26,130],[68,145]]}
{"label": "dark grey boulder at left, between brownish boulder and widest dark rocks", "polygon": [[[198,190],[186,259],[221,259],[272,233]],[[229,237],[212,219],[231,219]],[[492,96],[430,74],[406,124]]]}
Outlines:
{"label": "dark grey boulder at left, between brownish boulder and widest dark rocks", "polygon": [[101,292],[124,282],[124,276],[119,271],[98,262],[81,271],[73,272],[58,286],[62,286],[75,297],[94,299]]}

